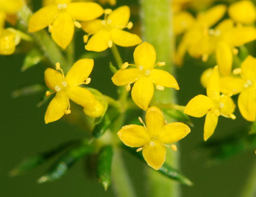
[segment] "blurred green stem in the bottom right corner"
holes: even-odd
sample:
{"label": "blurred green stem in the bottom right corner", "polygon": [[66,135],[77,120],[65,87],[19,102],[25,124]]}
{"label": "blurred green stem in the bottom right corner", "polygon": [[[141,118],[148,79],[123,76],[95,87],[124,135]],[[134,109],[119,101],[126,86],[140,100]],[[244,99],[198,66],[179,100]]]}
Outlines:
{"label": "blurred green stem in the bottom right corner", "polygon": [[256,196],[256,160],[253,163],[250,176],[244,185],[240,197],[255,197]]}

